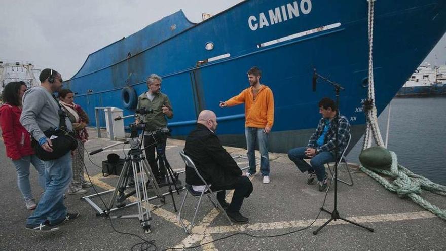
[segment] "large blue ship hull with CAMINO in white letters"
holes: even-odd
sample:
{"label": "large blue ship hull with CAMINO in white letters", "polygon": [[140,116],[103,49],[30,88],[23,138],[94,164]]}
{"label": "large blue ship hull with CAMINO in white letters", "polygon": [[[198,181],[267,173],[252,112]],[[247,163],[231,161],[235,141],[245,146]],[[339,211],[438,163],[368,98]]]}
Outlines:
{"label": "large blue ship hull with CAMINO in white letters", "polygon": [[[445,30],[446,0],[376,2],[374,75],[379,113]],[[423,34],[423,43],[413,34]],[[205,49],[208,42],[214,45],[212,50]],[[209,109],[217,114],[217,134],[224,144],[243,147],[243,105],[220,109],[218,101],[248,87],[246,71],[254,65],[262,69],[261,82],[275,98],[270,151],[306,145],[320,119],[318,101],[334,98],[328,84],[319,83],[312,92],[313,68],[345,87],[340,111],[353,126],[353,146],[365,124],[367,1],[244,1],[198,24],[178,11],[90,54],[65,86],[78,93],[76,102],[94,117],[95,106],[123,107],[123,87],[132,86],[138,95],[146,91],[146,77],[156,73],[163,77],[162,91],[174,109],[169,121],[174,137],[187,135],[198,113]],[[125,110],[124,115],[133,113]]]}

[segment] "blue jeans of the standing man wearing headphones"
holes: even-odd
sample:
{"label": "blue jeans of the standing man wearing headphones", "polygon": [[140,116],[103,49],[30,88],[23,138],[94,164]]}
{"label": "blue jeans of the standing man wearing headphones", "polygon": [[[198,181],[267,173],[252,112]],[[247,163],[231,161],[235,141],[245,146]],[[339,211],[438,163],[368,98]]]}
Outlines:
{"label": "blue jeans of the standing man wearing headphones", "polygon": [[71,170],[71,154],[43,161],[47,185],[45,193],[35,208],[34,213],[28,217],[26,224],[38,225],[48,220],[58,222],[66,216],[66,207],[63,205],[63,194],[68,188],[73,172]]}

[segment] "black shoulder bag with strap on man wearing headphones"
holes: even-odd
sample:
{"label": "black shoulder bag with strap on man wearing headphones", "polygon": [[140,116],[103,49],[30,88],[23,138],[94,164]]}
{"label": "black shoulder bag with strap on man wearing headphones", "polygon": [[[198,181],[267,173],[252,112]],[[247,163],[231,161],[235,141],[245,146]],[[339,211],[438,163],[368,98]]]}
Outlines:
{"label": "black shoulder bag with strap on man wearing headphones", "polygon": [[[56,100],[57,102],[57,100]],[[53,144],[53,152],[45,151],[34,137],[31,137],[31,146],[34,149],[35,155],[41,160],[55,160],[64,156],[69,151],[75,151],[78,148],[78,140],[73,132],[66,128],[65,117],[66,114],[62,110],[59,102],[59,128],[44,131],[44,134],[49,138]]]}

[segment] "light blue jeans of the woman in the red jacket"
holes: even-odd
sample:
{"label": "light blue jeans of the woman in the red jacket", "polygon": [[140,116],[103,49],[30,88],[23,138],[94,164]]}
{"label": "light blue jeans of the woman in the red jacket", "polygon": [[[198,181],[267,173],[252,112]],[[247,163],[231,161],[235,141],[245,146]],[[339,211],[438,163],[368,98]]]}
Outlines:
{"label": "light blue jeans of the woman in the red jacket", "polygon": [[17,185],[25,200],[32,199],[31,184],[29,184],[29,164],[32,163],[39,173],[39,185],[45,190],[45,166],[42,160],[35,154],[23,156],[21,159],[13,160],[12,163],[17,170]]}

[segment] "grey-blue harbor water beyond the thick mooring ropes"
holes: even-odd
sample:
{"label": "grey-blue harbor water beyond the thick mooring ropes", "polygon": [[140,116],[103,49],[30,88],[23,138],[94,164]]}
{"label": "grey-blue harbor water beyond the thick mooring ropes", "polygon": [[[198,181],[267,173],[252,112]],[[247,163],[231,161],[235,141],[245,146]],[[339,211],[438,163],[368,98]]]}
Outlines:
{"label": "grey-blue harbor water beyond the thick mooring ropes", "polygon": [[[394,98],[391,102],[388,149],[398,163],[416,174],[446,185],[446,97]],[[385,140],[389,106],[378,118]],[[347,156],[359,162],[363,137]]]}

